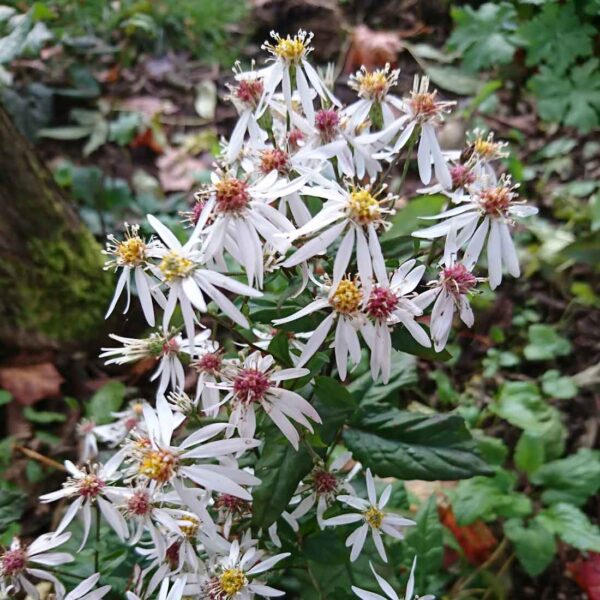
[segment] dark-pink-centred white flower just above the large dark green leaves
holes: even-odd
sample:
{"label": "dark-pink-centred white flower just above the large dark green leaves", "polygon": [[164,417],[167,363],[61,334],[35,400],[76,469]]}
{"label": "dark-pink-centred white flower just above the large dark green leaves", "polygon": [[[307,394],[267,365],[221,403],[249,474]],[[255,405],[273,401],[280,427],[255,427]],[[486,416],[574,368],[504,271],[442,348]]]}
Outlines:
{"label": "dark-pink-centred white flower just above the large dark green leaves", "polygon": [[[313,431],[308,419],[321,423],[313,406],[300,394],[280,386],[282,381],[309,374],[308,369],[276,369],[272,356],[253,352],[241,363],[229,363],[222,373],[225,390],[223,402],[231,403],[230,424],[242,437],[252,437],[256,430],[256,409],[261,407],[297,450],[300,436],[291,421]],[[233,431],[233,430],[232,430]]]}

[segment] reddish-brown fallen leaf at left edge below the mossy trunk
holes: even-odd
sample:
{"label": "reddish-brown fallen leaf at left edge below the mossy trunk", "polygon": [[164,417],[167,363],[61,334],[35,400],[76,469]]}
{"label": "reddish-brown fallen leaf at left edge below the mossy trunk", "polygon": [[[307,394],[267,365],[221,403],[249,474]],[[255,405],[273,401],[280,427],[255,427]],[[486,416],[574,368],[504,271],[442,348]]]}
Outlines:
{"label": "reddish-brown fallen leaf at left edge below the mossy trunk", "polygon": [[52,363],[0,368],[0,388],[9,391],[20,404],[35,404],[60,395],[64,381]]}

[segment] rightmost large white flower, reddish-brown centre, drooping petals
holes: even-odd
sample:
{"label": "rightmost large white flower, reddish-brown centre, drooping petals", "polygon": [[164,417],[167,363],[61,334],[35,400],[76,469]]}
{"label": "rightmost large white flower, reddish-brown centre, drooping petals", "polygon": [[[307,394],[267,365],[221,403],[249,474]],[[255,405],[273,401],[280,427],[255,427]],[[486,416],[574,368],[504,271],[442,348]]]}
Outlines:
{"label": "rightmost large white flower, reddish-brown centre, drooping petals", "polygon": [[[449,241],[449,234],[454,229],[456,248],[462,248],[466,244],[463,262],[468,269],[472,269],[479,259],[487,239],[489,282],[490,287],[496,289],[502,282],[503,266],[513,277],[518,277],[521,272],[510,235],[513,218],[527,217],[538,212],[537,208],[517,201],[516,187],[509,178],[502,177],[497,185],[474,190],[470,200],[431,217],[441,219],[441,223],[415,231],[413,236],[425,239],[448,236],[448,246],[454,244]],[[447,247],[445,253],[450,252]]]}

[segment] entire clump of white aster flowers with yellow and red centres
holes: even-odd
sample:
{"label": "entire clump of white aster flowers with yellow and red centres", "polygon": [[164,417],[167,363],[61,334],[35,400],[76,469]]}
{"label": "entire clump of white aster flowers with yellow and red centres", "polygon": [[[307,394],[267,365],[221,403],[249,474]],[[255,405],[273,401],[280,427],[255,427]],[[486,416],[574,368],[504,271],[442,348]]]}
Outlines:
{"label": "entire clump of white aster flowers with yellow and red centres", "polygon": [[[61,501],[58,528],[0,554],[0,593],[37,598],[32,580],[48,580],[58,600],[104,597],[97,575],[66,595],[54,573],[72,559],[54,549],[77,518],[82,547],[98,519],[135,546],[127,598],[141,600],[284,595],[267,584],[289,556],[276,551],[281,521],[296,532],[310,519],[320,528],[351,524],[352,561],[369,539],[387,561],[384,540],[402,539],[413,524],[388,508],[390,486],[376,493],[370,470],[367,497],[357,495],[351,480],[361,466],[349,453],[331,460],[339,436],[328,448],[311,445],[328,425],[315,407],[314,378],[346,380],[369,354],[372,377],[386,382],[397,329],[441,351],[455,314],[473,325],[469,297],[486,281],[482,256],[490,287],[504,269],[519,275],[511,231],[535,209],[496,176],[492,163],[504,146],[492,136],[476,132],[461,153],[440,147],[436,132],[453,103],[430,91],[427,78],[395,93],[397,70],[363,68],[349,82],[358,99],[344,107],[308,60],[311,37],[272,34],[264,68],[236,66],[229,91],[239,121],[210,184],[195,195],[186,240],[152,215],[145,235],[136,224],[121,240],[110,236],[106,268],[118,278],[108,314],[125,292],[125,311],[135,296],[152,329],[141,339],[112,335],[117,346],[102,356],[156,361],[156,395],[133,401],[113,423],[81,425],[80,464],[67,462],[62,489],[41,498]],[[383,174],[401,161],[408,167],[413,150],[430,186],[423,193],[447,197],[435,224],[413,235],[445,243],[390,255],[382,235],[399,196]],[[273,348],[279,332],[283,352]],[[281,519],[257,528],[254,465],[278,435],[290,451],[308,450],[313,466]],[[398,598],[374,573],[386,596]]]}

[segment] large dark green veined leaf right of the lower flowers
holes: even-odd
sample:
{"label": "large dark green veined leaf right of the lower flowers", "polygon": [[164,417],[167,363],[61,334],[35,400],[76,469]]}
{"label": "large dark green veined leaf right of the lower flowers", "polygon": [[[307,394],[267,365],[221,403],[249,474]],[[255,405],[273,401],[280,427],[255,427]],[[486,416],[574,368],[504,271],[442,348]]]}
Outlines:
{"label": "large dark green veined leaf right of the lower flowers", "polygon": [[354,457],[381,477],[464,479],[490,473],[464,420],[394,408],[360,410],[344,440]]}

